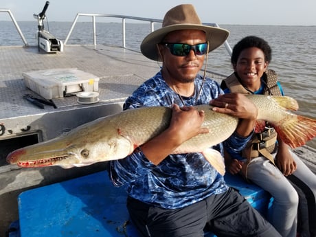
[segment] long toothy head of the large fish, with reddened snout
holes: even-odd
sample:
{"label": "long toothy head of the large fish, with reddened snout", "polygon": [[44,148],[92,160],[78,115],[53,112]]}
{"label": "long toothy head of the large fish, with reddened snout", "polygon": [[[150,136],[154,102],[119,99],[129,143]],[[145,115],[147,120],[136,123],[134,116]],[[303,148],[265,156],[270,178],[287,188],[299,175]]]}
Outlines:
{"label": "long toothy head of the large fish, with reddened snout", "polygon": [[7,161],[24,168],[72,168],[122,159],[131,154],[133,148],[131,140],[116,131],[89,128],[88,132],[86,128],[80,128],[67,135],[14,150]]}

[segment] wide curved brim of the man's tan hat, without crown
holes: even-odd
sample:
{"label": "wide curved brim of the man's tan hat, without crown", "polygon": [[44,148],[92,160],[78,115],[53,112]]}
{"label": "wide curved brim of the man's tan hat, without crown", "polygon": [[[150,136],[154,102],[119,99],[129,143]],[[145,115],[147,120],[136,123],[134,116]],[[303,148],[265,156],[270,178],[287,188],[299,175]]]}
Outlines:
{"label": "wide curved brim of the man's tan hat, without crown", "polygon": [[219,27],[212,27],[208,25],[196,25],[196,24],[179,24],[168,25],[161,27],[154,32],[151,32],[144,38],[140,45],[140,50],[144,56],[152,60],[161,61],[161,58],[157,52],[157,44],[161,43],[163,38],[170,32],[175,30],[203,30],[206,34],[206,41],[209,43],[209,51],[221,46],[229,36],[229,31]]}

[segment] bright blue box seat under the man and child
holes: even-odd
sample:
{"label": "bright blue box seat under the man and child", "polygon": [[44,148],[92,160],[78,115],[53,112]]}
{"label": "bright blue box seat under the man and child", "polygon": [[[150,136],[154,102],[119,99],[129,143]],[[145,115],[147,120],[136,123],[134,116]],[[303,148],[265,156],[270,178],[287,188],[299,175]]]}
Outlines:
{"label": "bright blue box seat under the man and child", "polygon": [[[265,214],[270,201],[267,192],[238,176],[225,174],[225,180]],[[115,188],[106,171],[27,190],[18,201],[23,237],[138,236],[128,218],[124,187]]]}

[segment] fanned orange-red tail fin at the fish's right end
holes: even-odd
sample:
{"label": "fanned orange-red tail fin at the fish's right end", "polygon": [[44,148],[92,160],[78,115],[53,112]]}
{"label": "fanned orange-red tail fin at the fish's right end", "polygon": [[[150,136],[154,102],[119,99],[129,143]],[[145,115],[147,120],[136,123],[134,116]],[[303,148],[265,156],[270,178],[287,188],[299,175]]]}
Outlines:
{"label": "fanned orange-red tail fin at the fish's right end", "polygon": [[280,126],[273,126],[283,142],[296,148],[303,146],[316,136],[316,120],[297,115],[295,120],[286,120]]}

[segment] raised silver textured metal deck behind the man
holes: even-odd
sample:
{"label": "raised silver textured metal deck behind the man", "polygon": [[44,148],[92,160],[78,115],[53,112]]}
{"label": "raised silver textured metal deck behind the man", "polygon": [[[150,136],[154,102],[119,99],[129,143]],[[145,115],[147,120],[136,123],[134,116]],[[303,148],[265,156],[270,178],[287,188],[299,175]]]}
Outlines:
{"label": "raised silver textured metal deck behind the man", "polygon": [[[63,53],[56,54],[38,52],[37,47],[1,47],[0,55],[0,120],[16,117],[16,114],[25,116],[56,111],[49,106],[42,111],[23,100],[25,93],[32,93],[25,87],[23,72],[58,68],[87,71],[100,78],[100,103],[111,103],[124,101],[137,85],[159,70],[157,63],[139,52],[103,45],[67,45]],[[76,96],[53,101],[58,109],[82,106],[76,102]]]}

